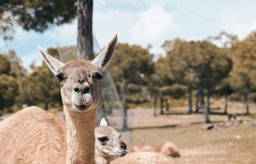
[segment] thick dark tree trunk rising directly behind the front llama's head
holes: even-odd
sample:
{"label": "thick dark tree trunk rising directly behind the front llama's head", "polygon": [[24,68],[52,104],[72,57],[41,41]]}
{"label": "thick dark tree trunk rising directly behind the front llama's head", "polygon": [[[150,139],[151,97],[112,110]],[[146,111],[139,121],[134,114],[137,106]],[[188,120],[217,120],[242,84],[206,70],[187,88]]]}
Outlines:
{"label": "thick dark tree trunk rising directly behind the front llama's head", "polygon": [[92,10],[93,0],[78,0],[77,57],[90,61],[93,59]]}

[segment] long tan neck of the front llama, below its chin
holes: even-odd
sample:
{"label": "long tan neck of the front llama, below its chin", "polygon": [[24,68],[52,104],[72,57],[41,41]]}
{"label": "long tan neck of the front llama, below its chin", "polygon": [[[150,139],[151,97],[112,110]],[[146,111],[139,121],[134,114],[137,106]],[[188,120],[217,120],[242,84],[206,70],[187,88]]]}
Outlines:
{"label": "long tan neck of the front llama, below its chin", "polygon": [[96,107],[83,113],[70,111],[64,107],[64,112],[67,121],[66,163],[94,163]]}

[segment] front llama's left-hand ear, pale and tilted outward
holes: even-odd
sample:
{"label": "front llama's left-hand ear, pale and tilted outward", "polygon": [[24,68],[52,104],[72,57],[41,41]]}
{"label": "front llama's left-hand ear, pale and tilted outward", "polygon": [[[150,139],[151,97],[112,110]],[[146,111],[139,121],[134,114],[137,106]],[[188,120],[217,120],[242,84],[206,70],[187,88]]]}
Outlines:
{"label": "front llama's left-hand ear, pale and tilted outward", "polygon": [[37,47],[38,47],[38,50],[41,52],[47,66],[50,68],[52,73],[56,75],[58,68],[60,68],[61,66],[64,66],[64,63],[47,54],[47,52],[45,52],[39,45],[37,45]]}

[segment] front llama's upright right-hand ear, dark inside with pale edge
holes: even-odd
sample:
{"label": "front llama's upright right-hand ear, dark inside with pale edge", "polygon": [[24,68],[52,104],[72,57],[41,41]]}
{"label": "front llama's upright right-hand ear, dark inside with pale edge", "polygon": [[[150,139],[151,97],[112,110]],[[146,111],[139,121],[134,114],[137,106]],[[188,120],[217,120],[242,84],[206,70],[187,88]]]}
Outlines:
{"label": "front llama's upright right-hand ear, dark inside with pale edge", "polygon": [[117,35],[115,34],[115,37],[108,43],[108,45],[102,50],[102,52],[100,52],[100,54],[95,57],[92,63],[104,70],[115,52],[116,43]]}

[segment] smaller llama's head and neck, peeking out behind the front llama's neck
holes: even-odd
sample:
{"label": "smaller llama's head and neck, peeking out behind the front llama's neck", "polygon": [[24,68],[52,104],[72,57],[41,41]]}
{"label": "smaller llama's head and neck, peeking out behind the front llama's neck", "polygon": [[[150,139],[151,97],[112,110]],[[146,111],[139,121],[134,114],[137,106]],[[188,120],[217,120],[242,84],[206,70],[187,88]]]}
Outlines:
{"label": "smaller llama's head and neck, peeking out behind the front llama's neck", "polygon": [[95,128],[95,164],[109,164],[112,156],[128,153],[120,137],[120,133],[108,126],[106,119],[102,118],[100,126]]}

